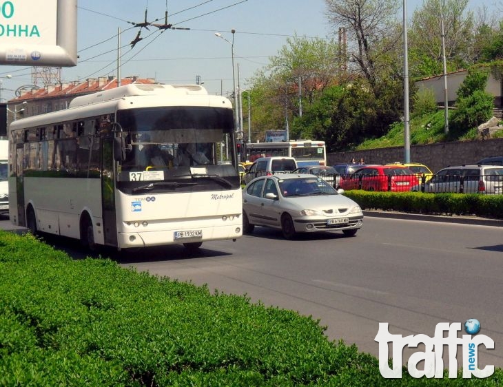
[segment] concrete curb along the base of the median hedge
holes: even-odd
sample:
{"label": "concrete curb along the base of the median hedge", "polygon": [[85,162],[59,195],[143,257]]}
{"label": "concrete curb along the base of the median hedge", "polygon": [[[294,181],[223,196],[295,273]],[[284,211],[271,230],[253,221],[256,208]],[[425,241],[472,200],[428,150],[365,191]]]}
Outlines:
{"label": "concrete curb along the base of the median hedge", "polygon": [[373,218],[426,220],[428,222],[444,222],[444,223],[458,223],[458,224],[473,224],[479,226],[503,227],[502,219],[479,218],[477,216],[458,216],[458,215],[440,216],[440,215],[423,215],[420,213],[369,211],[369,210],[364,210],[363,215]]}

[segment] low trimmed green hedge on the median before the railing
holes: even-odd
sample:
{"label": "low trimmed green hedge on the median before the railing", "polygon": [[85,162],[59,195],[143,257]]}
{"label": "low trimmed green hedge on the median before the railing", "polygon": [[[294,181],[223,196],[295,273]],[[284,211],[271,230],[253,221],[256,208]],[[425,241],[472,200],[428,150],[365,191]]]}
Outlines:
{"label": "low trimmed green hedge on the median before the railing", "polygon": [[362,190],[345,191],[344,195],[355,200],[362,209],[503,219],[503,195]]}

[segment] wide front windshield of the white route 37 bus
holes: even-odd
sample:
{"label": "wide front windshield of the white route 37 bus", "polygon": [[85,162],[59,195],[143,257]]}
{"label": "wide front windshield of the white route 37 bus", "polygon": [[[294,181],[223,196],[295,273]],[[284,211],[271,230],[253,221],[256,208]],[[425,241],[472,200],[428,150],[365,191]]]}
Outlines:
{"label": "wide front windshield of the white route 37 bus", "polygon": [[[229,187],[234,187],[236,170],[218,163],[223,135],[233,134],[232,110],[215,107],[128,109],[117,113],[117,122],[125,136],[126,151],[116,177],[118,182],[132,183],[119,185],[120,189],[134,189],[139,181],[179,182],[187,176],[214,175],[232,178]],[[198,179],[197,185],[205,182],[218,184],[216,179],[209,178]],[[188,184],[156,186],[194,189]]]}

